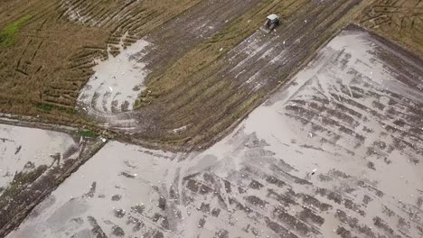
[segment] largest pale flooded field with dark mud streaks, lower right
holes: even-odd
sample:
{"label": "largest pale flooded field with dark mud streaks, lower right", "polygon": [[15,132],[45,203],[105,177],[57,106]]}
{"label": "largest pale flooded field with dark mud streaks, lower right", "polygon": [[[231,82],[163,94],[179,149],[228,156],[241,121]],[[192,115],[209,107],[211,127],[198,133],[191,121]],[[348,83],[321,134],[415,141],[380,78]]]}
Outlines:
{"label": "largest pale flooded field with dark mud streaks, lower right", "polygon": [[221,142],[109,142],[7,237],[422,237],[422,76],[350,25]]}

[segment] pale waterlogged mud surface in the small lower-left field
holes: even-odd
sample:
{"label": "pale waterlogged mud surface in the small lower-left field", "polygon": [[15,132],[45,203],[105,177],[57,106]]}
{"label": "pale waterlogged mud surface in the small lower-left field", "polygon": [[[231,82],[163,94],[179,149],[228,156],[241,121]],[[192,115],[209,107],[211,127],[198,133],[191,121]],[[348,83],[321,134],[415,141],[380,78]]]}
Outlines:
{"label": "pale waterlogged mud surface in the small lower-left field", "polygon": [[80,146],[80,142],[75,142],[71,136],[63,133],[3,124],[0,125],[0,133],[0,196],[17,173],[60,165],[63,160],[74,157]]}

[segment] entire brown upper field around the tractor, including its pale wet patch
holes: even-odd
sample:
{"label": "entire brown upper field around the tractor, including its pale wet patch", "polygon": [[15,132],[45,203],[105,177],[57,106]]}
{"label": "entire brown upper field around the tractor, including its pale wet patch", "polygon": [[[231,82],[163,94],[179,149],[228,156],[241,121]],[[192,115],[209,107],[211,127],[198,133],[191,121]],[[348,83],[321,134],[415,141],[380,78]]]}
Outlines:
{"label": "entire brown upper field around the tractor, including its pale wet patch", "polygon": [[[356,22],[421,55],[418,0],[7,0],[0,112],[209,146]],[[257,32],[266,15],[276,32]],[[218,112],[218,113],[216,113]]]}

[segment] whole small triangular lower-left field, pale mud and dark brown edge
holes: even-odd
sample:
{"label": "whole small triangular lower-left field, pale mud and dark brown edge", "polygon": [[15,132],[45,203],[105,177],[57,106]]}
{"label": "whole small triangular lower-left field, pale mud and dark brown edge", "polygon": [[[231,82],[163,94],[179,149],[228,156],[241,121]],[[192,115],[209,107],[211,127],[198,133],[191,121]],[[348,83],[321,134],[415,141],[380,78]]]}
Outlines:
{"label": "whole small triangular lower-left field, pale mud and dark brown edge", "polygon": [[0,124],[0,143],[0,236],[3,237],[102,142]]}

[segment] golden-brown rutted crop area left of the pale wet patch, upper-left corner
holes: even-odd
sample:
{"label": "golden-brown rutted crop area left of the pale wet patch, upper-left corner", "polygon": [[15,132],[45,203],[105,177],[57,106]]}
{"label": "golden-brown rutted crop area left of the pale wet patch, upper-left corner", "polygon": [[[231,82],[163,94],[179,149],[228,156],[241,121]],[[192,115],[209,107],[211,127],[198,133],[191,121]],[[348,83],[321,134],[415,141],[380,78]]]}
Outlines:
{"label": "golden-brown rutted crop area left of the pale wet patch, upper-left corner", "polygon": [[[0,6],[0,111],[89,124],[75,114],[94,59],[117,55],[195,0],[4,1]],[[7,10],[7,11],[6,11]],[[13,29],[13,31],[10,31]],[[13,33],[11,33],[13,32]]]}

